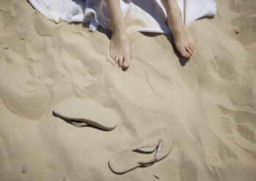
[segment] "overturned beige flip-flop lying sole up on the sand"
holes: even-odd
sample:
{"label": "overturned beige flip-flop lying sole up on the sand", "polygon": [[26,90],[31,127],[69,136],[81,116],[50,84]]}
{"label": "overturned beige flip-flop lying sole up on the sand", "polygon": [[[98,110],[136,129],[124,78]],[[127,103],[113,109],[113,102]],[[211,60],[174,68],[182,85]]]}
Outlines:
{"label": "overturned beige flip-flop lying sole up on the sand", "polygon": [[56,104],[53,113],[59,118],[69,120],[74,126],[92,125],[108,131],[116,127],[118,119],[112,110],[91,99],[65,99]]}

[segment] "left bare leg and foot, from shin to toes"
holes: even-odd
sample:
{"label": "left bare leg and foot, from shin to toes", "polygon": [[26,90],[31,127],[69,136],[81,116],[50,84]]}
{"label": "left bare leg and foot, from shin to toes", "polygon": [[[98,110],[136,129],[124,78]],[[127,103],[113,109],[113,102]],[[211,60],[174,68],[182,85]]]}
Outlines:
{"label": "left bare leg and foot, from shin to toes", "polygon": [[110,56],[119,66],[128,67],[130,63],[129,39],[121,14],[119,0],[105,0],[110,14]]}

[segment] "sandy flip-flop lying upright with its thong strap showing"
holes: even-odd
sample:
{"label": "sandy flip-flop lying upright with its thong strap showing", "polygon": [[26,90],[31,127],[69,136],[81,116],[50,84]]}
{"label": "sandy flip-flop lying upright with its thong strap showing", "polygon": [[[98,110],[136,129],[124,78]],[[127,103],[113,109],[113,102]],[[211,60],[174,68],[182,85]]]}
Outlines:
{"label": "sandy flip-flop lying upright with its thong strap showing", "polygon": [[174,142],[170,134],[167,134],[165,139],[162,139],[162,136],[156,136],[154,139],[148,139],[146,145],[144,144],[143,142],[142,145],[112,155],[108,162],[112,172],[124,174],[138,167],[151,166],[170,153]]}

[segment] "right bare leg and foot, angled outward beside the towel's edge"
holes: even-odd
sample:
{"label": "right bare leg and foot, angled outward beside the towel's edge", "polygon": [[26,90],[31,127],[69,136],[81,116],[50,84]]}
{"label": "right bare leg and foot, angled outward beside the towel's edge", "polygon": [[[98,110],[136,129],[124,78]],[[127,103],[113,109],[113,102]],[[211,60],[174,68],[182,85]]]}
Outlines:
{"label": "right bare leg and foot, angled outward beside the towel's edge", "polygon": [[181,9],[176,0],[162,0],[162,4],[167,12],[167,26],[173,33],[176,48],[183,57],[188,58],[194,52],[195,43],[182,20]]}

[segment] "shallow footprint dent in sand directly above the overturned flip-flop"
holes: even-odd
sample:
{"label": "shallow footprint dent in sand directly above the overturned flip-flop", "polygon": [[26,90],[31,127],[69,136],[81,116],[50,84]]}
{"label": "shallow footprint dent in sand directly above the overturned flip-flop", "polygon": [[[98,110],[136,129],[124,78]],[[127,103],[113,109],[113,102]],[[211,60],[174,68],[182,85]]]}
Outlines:
{"label": "shallow footprint dent in sand directly above the overturned flip-flop", "polygon": [[64,42],[61,64],[76,96],[94,98],[102,89],[102,64],[80,45]]}

